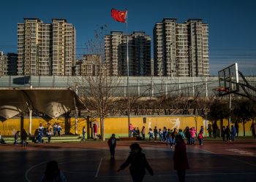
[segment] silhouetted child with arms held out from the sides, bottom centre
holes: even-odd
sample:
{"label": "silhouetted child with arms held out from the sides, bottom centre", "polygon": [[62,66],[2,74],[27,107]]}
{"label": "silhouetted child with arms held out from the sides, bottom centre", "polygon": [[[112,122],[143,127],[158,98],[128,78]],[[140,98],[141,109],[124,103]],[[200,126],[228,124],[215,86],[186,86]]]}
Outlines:
{"label": "silhouetted child with arms held out from the sides, bottom centre", "polygon": [[132,175],[133,182],[141,182],[143,181],[144,175],[146,174],[146,170],[151,175],[154,175],[154,172],[151,166],[148,164],[145,154],[143,154],[138,143],[132,143],[129,146],[131,149],[129,153],[129,157],[127,160],[119,167],[117,172],[120,170],[124,170],[127,166],[129,166],[129,173]]}

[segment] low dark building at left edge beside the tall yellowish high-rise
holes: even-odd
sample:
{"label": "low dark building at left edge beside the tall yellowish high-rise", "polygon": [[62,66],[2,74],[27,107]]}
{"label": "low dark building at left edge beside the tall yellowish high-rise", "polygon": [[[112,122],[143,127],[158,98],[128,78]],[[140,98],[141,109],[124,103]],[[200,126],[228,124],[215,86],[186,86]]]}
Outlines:
{"label": "low dark building at left edge beside the tall yellowish high-rise", "polygon": [[17,75],[17,59],[15,53],[7,53],[0,51],[0,75]]}

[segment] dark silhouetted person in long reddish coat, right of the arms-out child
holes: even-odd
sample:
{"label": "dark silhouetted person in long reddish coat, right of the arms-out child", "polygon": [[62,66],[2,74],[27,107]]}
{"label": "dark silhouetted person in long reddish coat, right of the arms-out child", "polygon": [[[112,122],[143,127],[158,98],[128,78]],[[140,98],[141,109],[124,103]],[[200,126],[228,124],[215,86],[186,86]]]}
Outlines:
{"label": "dark silhouetted person in long reddish coat, right of the arms-out child", "polygon": [[173,153],[173,168],[177,170],[178,181],[184,182],[186,170],[189,169],[187,149],[181,135],[176,135],[176,146]]}

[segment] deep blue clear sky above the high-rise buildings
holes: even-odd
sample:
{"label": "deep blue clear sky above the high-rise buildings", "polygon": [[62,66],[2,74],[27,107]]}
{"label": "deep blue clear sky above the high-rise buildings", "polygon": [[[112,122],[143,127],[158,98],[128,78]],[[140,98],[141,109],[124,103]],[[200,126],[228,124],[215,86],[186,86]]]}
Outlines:
{"label": "deep blue clear sky above the high-rise buildings", "polygon": [[189,18],[203,19],[209,25],[211,75],[234,62],[238,62],[239,70],[245,74],[255,75],[256,1],[253,0],[4,0],[0,11],[0,50],[17,52],[17,23],[23,23],[23,17],[38,17],[44,23],[57,17],[75,25],[77,52],[83,54],[84,44],[94,38],[97,26],[108,25],[109,32],[125,31],[125,23],[114,21],[110,9],[126,7],[128,32],[145,31],[152,39],[154,24],[164,17],[176,17],[178,23]]}

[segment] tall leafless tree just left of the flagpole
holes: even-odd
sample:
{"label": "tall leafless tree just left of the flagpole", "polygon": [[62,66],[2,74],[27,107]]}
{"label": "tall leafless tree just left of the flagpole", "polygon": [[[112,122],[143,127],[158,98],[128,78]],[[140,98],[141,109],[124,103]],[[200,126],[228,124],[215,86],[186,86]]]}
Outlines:
{"label": "tall leafless tree just left of the flagpole", "polygon": [[94,32],[94,39],[86,43],[87,61],[94,63],[94,71],[91,74],[82,76],[72,76],[72,82],[75,83],[78,95],[87,106],[86,112],[94,118],[100,120],[101,139],[105,141],[104,120],[116,103],[119,102],[116,95],[116,89],[120,83],[118,76],[109,76],[108,68],[104,63],[104,35],[106,25],[100,27]]}

